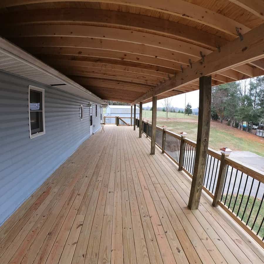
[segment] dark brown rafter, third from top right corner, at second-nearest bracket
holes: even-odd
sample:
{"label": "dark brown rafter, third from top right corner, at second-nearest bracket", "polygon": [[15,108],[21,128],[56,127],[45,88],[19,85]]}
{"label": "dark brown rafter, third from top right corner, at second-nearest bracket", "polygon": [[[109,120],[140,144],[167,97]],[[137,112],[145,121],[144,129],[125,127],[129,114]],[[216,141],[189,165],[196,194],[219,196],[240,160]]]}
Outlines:
{"label": "dark brown rafter, third from top right corner, at second-nearest bracket", "polygon": [[57,8],[23,10],[23,12],[1,14],[0,22],[6,27],[8,27],[8,24],[67,23],[79,25],[81,23],[175,37],[211,49],[216,49],[217,46],[221,47],[226,44],[226,40],[223,38],[180,23],[151,16],[101,9]]}

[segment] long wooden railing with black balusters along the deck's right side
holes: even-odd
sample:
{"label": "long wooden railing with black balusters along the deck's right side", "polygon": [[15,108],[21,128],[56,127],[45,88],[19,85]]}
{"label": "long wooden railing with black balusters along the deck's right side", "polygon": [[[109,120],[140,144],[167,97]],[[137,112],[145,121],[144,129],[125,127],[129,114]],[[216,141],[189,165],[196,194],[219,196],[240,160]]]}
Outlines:
{"label": "long wooden railing with black balusters along the deck's right side", "polygon": [[[142,121],[142,131],[147,138],[151,138],[151,128],[151,123]],[[195,141],[157,126],[156,145],[179,166],[179,170],[192,177]],[[224,209],[264,248],[264,174],[222,155],[208,149],[203,189],[215,200],[213,204]]]}

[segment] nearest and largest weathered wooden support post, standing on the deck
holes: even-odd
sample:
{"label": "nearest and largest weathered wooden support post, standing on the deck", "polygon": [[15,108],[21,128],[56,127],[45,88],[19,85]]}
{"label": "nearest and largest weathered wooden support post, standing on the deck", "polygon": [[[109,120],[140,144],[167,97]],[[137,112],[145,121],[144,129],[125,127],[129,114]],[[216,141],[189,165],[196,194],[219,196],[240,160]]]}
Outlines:
{"label": "nearest and largest weathered wooden support post, standing on the deck", "polygon": [[211,76],[199,78],[199,115],[197,145],[194,162],[194,172],[192,177],[192,186],[189,196],[189,209],[198,209],[202,194],[204,181],[205,164],[210,133],[211,120],[211,93],[212,93]]}

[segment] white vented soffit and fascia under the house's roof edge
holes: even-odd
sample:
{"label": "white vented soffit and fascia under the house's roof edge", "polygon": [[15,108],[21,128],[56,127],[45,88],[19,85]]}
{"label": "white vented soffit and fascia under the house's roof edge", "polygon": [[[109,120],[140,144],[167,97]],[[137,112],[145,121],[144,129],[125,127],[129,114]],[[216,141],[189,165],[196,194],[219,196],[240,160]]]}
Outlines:
{"label": "white vented soffit and fascia under the house's roof edge", "polygon": [[[43,84],[53,85],[53,87],[83,97],[94,103],[106,104],[92,92],[1,37],[0,70]],[[54,84],[65,85],[56,86]]]}

